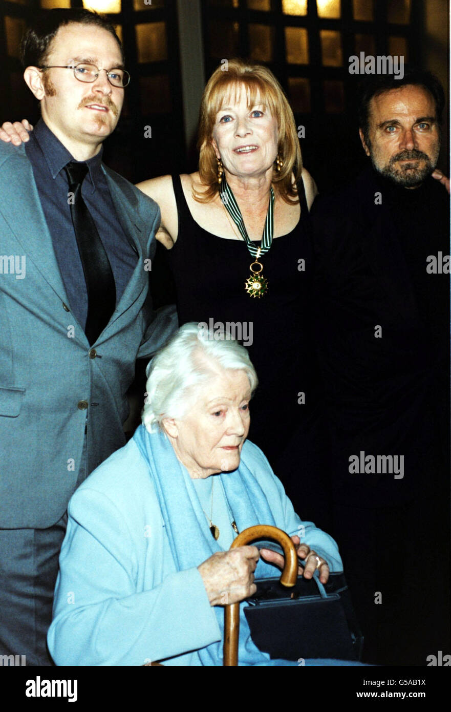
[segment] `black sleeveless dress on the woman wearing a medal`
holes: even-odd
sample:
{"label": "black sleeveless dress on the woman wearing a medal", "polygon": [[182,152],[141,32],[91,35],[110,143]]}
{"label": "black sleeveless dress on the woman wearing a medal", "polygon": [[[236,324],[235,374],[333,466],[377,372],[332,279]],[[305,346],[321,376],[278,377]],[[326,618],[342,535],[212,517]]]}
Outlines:
{"label": "black sleeveless dress on the woman wearing a medal", "polygon": [[299,488],[302,485],[305,494],[305,478],[316,481],[314,493],[322,491],[318,476],[324,453],[312,338],[312,237],[304,184],[301,180],[298,186],[299,222],[290,233],[274,239],[262,257],[268,290],[253,298],[245,291],[253,257],[244,241],[223,239],[201,228],[191,216],[180,177],[173,176],[172,181],[179,236],[168,254],[179,324],[247,325],[241,342],[249,342],[244,345],[259,380],[250,404],[249,439],[265,453],[299,513]]}

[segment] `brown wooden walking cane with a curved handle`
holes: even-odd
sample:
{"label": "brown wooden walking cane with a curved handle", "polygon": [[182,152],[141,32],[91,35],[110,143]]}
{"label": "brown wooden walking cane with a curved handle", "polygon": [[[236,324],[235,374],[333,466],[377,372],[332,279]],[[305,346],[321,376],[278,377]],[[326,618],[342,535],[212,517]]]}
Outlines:
{"label": "brown wooden walking cane with a curved handle", "polygon": [[[266,524],[257,524],[238,534],[230,549],[245,546],[255,539],[274,539],[283,549],[285,565],[280,583],[292,587],[297,580],[297,550],[290,537],[282,529]],[[238,665],[238,637],[240,634],[240,604],[231,603],[224,608],[224,660],[223,665]]]}

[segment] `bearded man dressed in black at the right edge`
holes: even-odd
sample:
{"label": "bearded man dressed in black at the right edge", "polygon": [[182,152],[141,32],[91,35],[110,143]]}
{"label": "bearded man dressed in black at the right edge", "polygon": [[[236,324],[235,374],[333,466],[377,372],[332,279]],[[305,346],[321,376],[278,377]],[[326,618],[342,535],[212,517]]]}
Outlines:
{"label": "bearded man dressed in black at the right edge", "polygon": [[450,652],[449,197],[429,73],[361,94],[371,165],[312,209],[334,530],[364,661]]}

